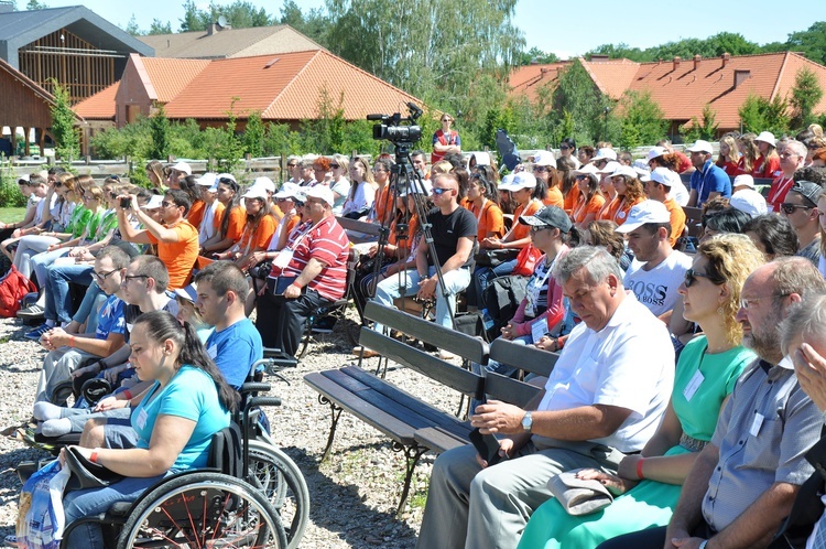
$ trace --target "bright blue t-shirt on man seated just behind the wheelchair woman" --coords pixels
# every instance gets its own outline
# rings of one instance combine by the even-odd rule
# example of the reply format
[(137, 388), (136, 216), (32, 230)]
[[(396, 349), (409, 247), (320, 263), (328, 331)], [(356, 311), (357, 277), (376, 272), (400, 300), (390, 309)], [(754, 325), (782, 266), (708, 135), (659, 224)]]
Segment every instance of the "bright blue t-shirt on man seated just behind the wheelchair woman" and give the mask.
[(252, 363), (264, 356), (261, 334), (249, 319), (236, 322), (220, 332), (213, 332), (205, 346), (224, 378), (235, 389), (247, 379)]

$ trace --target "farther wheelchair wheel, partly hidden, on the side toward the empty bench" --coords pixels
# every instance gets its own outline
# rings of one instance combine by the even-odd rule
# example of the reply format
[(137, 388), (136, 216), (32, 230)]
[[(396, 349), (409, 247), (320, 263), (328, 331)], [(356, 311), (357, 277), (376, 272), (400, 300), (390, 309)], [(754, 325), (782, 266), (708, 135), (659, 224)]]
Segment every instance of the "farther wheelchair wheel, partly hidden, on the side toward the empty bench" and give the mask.
[(272, 444), (250, 440), (250, 483), (279, 513), (287, 547), (297, 548), (309, 520), (309, 491), (298, 466)]

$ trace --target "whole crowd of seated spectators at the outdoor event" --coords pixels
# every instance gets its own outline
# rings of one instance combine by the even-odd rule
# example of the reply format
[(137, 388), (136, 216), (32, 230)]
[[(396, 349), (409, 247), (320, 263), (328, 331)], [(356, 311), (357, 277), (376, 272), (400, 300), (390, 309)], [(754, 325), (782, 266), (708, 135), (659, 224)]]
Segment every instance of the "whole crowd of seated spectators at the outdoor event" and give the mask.
[[(524, 408), (474, 403), (472, 426), (499, 437), (504, 460), (488, 466), (472, 445), (436, 460), (419, 547), (781, 547), (826, 407), (816, 130), (725, 136), (717, 159), (707, 141), (688, 157), (663, 141), (635, 162), (565, 139), (558, 159), (542, 151), (501, 181), (487, 153), (428, 168), (414, 151), (406, 189), (389, 155), (372, 168), (291, 157), (280, 187), (156, 161), (153, 190), (59, 169), (21, 177), (26, 216), (0, 227), (0, 246), (39, 289), (19, 312), (43, 319), (25, 337), (48, 352), (37, 432), (78, 433), (85, 456), (128, 475), (72, 492), (67, 520), (203, 466), (264, 347), (295, 356), (308, 319), (351, 290), (359, 312), (414, 297), (444, 326), (477, 311), (500, 337), (559, 353)], [(686, 207), (703, 208), (696, 244)], [(339, 217), (387, 238), (365, 241)], [(523, 292), (514, 314), (490, 319), (504, 279)], [(90, 379), (110, 395), (57, 406), (58, 388)], [(573, 470), (613, 503), (568, 514), (548, 481)]]

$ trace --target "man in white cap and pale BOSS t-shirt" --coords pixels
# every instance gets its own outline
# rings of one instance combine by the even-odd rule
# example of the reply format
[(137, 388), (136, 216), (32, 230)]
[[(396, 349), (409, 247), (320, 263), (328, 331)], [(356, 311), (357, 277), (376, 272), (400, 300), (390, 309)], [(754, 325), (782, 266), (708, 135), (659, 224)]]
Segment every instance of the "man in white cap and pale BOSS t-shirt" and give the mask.
[(677, 288), (692, 266), (692, 258), (669, 243), (669, 209), (662, 202), (642, 201), (631, 208), (617, 232), (628, 235), (628, 247), (634, 252), (623, 286), (656, 316), (670, 313), (680, 298)]

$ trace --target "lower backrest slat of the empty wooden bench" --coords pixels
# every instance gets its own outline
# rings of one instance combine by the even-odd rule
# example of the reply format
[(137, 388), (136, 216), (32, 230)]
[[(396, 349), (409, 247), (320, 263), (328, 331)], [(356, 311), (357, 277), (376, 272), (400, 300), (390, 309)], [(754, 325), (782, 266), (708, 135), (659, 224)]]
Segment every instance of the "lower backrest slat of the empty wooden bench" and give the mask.
[(362, 327), (359, 343), (454, 390), (481, 399), (483, 380), (472, 372), (454, 366), (374, 330)]

